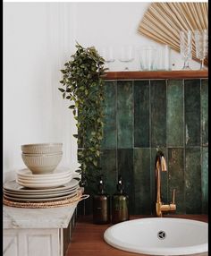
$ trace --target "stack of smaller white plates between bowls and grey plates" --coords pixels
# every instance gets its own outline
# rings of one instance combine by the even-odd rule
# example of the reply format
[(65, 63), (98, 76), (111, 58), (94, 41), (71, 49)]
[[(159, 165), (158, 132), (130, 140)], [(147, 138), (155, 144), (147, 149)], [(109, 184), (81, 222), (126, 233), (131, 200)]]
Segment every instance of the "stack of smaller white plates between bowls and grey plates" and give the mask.
[(32, 189), (55, 188), (72, 180), (72, 171), (68, 167), (56, 168), (51, 174), (33, 175), (30, 169), (21, 169), (16, 172), (17, 183)]

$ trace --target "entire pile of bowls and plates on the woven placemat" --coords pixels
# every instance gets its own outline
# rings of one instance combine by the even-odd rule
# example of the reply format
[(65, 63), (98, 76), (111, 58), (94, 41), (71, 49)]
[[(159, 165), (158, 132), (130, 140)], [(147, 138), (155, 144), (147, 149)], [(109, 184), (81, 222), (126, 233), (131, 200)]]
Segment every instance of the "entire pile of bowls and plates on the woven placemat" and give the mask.
[(80, 176), (70, 167), (57, 167), (63, 156), (62, 146), (62, 143), (21, 145), (21, 156), (28, 168), (16, 171), (16, 180), (4, 183), (4, 199), (16, 203), (72, 200), (79, 192)]

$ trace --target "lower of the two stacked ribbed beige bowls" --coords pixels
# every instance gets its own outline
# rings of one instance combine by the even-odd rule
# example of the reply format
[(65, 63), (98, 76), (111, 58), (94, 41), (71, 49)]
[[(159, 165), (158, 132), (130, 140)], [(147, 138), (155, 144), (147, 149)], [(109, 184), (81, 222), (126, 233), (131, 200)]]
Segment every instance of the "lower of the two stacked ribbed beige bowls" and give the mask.
[(63, 154), (45, 154), (40, 156), (21, 154), (21, 157), (24, 164), (30, 169), (33, 175), (44, 175), (55, 170), (62, 160)]

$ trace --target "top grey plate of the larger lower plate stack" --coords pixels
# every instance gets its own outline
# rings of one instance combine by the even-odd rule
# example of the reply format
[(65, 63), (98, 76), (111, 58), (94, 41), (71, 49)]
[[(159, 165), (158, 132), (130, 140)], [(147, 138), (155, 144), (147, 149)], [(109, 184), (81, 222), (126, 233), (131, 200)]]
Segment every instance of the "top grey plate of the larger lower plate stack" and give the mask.
[(8, 181), (4, 183), (4, 190), (12, 191), (12, 192), (55, 192), (55, 191), (65, 191), (71, 188), (76, 187), (79, 184), (79, 181), (72, 179), (69, 183), (65, 183), (56, 188), (47, 188), (43, 190), (32, 190), (30, 188), (25, 188), (22, 185), (16, 183), (16, 181)]

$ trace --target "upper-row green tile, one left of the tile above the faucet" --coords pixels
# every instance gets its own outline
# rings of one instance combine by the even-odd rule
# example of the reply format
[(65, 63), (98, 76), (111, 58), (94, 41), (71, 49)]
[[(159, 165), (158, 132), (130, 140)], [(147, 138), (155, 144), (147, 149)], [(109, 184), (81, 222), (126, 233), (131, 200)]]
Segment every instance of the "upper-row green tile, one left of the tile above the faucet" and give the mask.
[(134, 81), (134, 147), (149, 147), (149, 81)]

